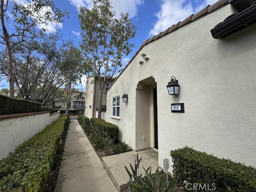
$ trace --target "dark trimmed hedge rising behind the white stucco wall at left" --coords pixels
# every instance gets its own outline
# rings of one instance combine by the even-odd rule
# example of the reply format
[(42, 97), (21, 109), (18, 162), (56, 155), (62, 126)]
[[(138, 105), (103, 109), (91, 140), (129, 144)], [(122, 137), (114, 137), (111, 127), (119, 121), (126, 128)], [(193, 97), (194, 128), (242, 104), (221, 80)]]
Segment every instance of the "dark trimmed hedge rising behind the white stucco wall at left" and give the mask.
[(50, 111), (40, 103), (0, 95), (0, 115)]

